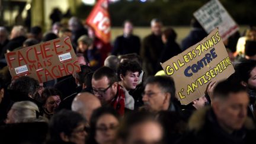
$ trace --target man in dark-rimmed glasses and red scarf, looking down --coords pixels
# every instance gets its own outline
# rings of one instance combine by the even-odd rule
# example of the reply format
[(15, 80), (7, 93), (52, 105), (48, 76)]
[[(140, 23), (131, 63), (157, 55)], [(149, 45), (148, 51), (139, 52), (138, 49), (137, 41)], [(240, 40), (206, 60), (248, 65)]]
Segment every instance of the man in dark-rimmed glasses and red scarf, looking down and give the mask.
[(101, 104), (111, 105), (123, 116), (124, 109), (134, 110), (135, 100), (118, 84), (116, 73), (113, 69), (103, 66), (92, 75), (92, 92)]

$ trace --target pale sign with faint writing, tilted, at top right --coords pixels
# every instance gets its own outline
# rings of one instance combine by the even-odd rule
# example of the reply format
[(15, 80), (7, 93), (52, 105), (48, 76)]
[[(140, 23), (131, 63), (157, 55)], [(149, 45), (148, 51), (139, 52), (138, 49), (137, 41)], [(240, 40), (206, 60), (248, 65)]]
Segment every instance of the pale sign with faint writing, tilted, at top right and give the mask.
[(229, 36), (239, 29), (231, 15), (228, 14), (218, 0), (207, 2), (207, 4), (194, 12), (193, 15), (208, 34), (215, 28), (219, 28), (222, 40), (228, 39)]

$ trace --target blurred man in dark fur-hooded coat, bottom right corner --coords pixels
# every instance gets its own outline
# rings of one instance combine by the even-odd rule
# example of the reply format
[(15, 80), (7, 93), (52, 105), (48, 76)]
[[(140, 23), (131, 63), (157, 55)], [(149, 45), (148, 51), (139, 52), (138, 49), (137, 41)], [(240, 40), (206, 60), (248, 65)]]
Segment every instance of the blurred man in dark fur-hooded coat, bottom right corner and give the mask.
[(198, 110), (179, 143), (253, 143), (255, 126), (247, 117), (249, 97), (240, 83), (222, 81), (213, 92), (212, 107)]

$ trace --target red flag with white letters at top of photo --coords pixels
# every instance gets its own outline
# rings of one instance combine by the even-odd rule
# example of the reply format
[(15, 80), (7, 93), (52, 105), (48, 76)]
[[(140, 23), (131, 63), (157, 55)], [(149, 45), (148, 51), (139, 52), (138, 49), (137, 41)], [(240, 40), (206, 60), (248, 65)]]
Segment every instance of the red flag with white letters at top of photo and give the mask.
[(86, 23), (95, 30), (95, 35), (110, 42), (110, 17), (108, 14), (108, 0), (99, 0), (89, 14)]

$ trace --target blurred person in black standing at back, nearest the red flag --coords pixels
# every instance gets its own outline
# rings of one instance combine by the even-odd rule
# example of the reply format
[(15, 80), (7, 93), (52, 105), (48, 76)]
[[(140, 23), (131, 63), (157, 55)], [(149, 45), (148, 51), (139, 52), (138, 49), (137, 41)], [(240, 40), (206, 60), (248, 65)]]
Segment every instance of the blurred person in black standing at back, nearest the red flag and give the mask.
[(140, 52), (140, 39), (133, 35), (133, 24), (126, 20), (123, 24), (123, 35), (118, 36), (114, 41), (112, 55), (126, 55), (128, 53)]

